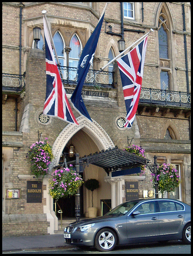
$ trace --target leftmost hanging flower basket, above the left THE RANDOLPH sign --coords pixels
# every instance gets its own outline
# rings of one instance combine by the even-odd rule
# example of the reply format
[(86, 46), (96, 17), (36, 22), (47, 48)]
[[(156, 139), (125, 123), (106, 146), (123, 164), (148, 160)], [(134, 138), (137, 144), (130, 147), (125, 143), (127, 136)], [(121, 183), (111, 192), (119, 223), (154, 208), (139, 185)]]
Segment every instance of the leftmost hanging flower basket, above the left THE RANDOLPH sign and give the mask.
[(35, 178), (47, 174), (49, 164), (53, 159), (52, 147), (47, 141), (35, 142), (30, 146), (29, 152), (26, 155), (28, 162), (30, 162), (30, 170)]

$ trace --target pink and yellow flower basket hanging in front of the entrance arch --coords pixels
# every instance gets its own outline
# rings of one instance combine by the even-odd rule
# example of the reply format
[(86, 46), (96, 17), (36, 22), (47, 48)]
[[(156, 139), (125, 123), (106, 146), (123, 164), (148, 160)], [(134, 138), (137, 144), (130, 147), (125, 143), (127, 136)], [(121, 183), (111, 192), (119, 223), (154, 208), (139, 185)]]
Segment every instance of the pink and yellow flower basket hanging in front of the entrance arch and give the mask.
[(83, 184), (83, 179), (79, 174), (72, 170), (72, 165), (69, 168), (60, 168), (55, 170), (49, 179), (49, 194), (55, 199), (76, 194), (79, 187)]

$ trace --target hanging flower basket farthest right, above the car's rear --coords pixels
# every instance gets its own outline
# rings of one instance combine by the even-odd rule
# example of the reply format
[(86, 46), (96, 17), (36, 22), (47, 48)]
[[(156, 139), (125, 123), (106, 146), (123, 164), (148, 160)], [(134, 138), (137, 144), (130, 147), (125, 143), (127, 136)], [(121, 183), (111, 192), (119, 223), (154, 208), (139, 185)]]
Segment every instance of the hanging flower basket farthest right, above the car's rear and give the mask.
[[(155, 174), (152, 173), (153, 187), (155, 188)], [(162, 164), (158, 168), (157, 174), (158, 190), (163, 194), (166, 192), (175, 192), (180, 184), (179, 172), (174, 168), (172, 164)]]

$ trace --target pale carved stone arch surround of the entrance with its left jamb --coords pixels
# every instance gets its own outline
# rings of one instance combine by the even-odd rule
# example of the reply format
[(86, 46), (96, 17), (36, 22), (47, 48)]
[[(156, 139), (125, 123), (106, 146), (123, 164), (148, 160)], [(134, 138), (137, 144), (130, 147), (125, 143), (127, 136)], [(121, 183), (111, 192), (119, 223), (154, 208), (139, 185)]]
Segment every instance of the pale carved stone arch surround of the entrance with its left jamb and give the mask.
[[(75, 136), (80, 130), (82, 130), (88, 137), (92, 140), (93, 144), (95, 144), (98, 151), (107, 150), (108, 148), (114, 148), (114, 144), (108, 134), (104, 131), (104, 129), (97, 123), (95, 120), (90, 122), (84, 116), (79, 116), (77, 118), (77, 122), (79, 126), (75, 124), (68, 124), (65, 128), (61, 131), (59, 136), (56, 138), (55, 142), (53, 143), (53, 154), (55, 159), (51, 163), (49, 173), (51, 173), (54, 166), (57, 166), (59, 163), (59, 159), (61, 153), (63, 152), (64, 147), (67, 145), (69, 140)], [(93, 152), (91, 152), (93, 153)], [(94, 166), (94, 168), (96, 168)], [(103, 178), (104, 179), (104, 178)], [(47, 214), (47, 221), (50, 222), (50, 227), (48, 228), (49, 234), (54, 234), (54, 230), (57, 230), (57, 217), (55, 216), (55, 212), (53, 211), (53, 199), (48, 194), (48, 180), (49, 177), (44, 178), (43, 184), (46, 185), (47, 190), (44, 192), (44, 198), (46, 198), (46, 206), (44, 206), (44, 213)], [(86, 193), (88, 193), (86, 191)], [(87, 196), (87, 203), (88, 204), (88, 196)]]

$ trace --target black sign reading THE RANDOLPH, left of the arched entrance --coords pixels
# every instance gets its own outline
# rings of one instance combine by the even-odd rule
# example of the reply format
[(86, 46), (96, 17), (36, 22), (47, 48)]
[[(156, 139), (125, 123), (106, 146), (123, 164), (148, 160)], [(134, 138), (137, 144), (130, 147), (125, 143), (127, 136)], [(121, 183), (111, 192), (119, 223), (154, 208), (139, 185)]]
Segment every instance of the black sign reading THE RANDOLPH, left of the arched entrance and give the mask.
[(41, 203), (42, 182), (27, 181), (27, 203)]

